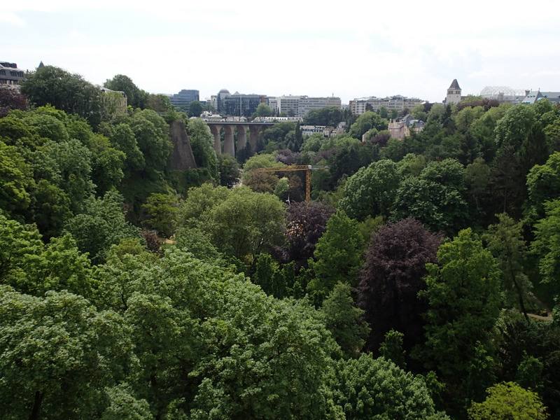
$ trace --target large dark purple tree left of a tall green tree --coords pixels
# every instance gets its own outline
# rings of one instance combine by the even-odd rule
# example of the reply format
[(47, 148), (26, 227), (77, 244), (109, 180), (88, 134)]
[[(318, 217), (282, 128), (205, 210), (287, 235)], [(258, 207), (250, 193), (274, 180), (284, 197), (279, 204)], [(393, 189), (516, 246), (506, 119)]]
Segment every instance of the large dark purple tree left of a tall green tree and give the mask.
[(442, 239), (412, 218), (389, 223), (372, 234), (356, 288), (358, 307), (365, 310), (372, 328), (368, 349), (378, 351), (391, 329), (405, 335), (407, 353), (423, 341), (421, 314), (426, 303), (416, 295), (426, 286), (422, 280), (428, 274), (426, 262), (437, 261)]

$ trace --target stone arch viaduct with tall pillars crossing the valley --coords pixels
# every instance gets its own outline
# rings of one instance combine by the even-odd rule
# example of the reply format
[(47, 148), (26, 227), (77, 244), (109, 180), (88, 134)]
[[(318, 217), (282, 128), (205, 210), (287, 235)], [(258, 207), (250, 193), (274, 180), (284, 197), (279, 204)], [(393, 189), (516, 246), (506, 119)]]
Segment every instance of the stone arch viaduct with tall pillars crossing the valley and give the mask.
[[(240, 123), (237, 121), (206, 121), (210, 132), (214, 136), (214, 151), (216, 155), (230, 155), (235, 157), (235, 152), (247, 145), (247, 129), (249, 130), (249, 144), (255, 153), (260, 133), (278, 123)], [(221, 144), (221, 130), (224, 130), (223, 151)], [(237, 130), (237, 142), (234, 142), (233, 132)]]

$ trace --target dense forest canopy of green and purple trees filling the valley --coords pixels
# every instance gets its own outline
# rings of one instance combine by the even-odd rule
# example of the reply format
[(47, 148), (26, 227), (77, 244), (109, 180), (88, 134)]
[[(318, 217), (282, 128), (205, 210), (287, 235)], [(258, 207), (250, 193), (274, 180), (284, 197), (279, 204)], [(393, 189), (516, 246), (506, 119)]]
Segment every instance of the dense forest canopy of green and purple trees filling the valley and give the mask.
[(0, 87), (3, 418), (559, 418), (559, 106), (424, 104), (404, 139), (330, 107), (234, 157), (106, 87)]

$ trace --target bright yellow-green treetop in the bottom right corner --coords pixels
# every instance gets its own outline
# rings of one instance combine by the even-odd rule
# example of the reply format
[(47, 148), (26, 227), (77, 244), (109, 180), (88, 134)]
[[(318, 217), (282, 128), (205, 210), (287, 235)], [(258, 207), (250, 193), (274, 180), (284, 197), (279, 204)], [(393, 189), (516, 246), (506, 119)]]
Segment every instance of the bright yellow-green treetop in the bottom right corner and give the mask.
[(484, 402), (473, 402), (468, 409), (469, 420), (546, 420), (546, 407), (538, 395), (515, 382), (491, 386)]

